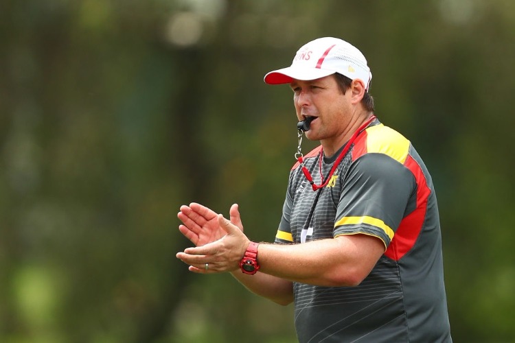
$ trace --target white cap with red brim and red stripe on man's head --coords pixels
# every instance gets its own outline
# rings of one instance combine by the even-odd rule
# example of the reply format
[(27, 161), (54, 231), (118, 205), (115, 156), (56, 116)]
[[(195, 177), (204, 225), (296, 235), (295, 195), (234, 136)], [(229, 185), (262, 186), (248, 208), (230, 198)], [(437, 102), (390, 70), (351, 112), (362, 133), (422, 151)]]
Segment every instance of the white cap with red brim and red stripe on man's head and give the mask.
[(267, 84), (287, 84), (295, 80), (315, 80), (340, 73), (351, 80), (360, 79), (368, 90), (372, 73), (367, 60), (354, 45), (339, 38), (324, 37), (306, 43), (297, 51), (290, 67), (264, 76)]

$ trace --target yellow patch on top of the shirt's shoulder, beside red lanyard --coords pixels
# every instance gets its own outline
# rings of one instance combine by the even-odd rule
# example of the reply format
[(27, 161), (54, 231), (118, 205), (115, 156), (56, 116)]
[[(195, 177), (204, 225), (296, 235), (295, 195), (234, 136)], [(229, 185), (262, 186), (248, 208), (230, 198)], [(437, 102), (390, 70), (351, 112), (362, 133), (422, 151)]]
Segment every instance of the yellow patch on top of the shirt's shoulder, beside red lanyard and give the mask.
[(386, 154), (404, 164), (409, 145), (410, 142), (402, 134), (383, 124), (367, 128), (367, 152)]

